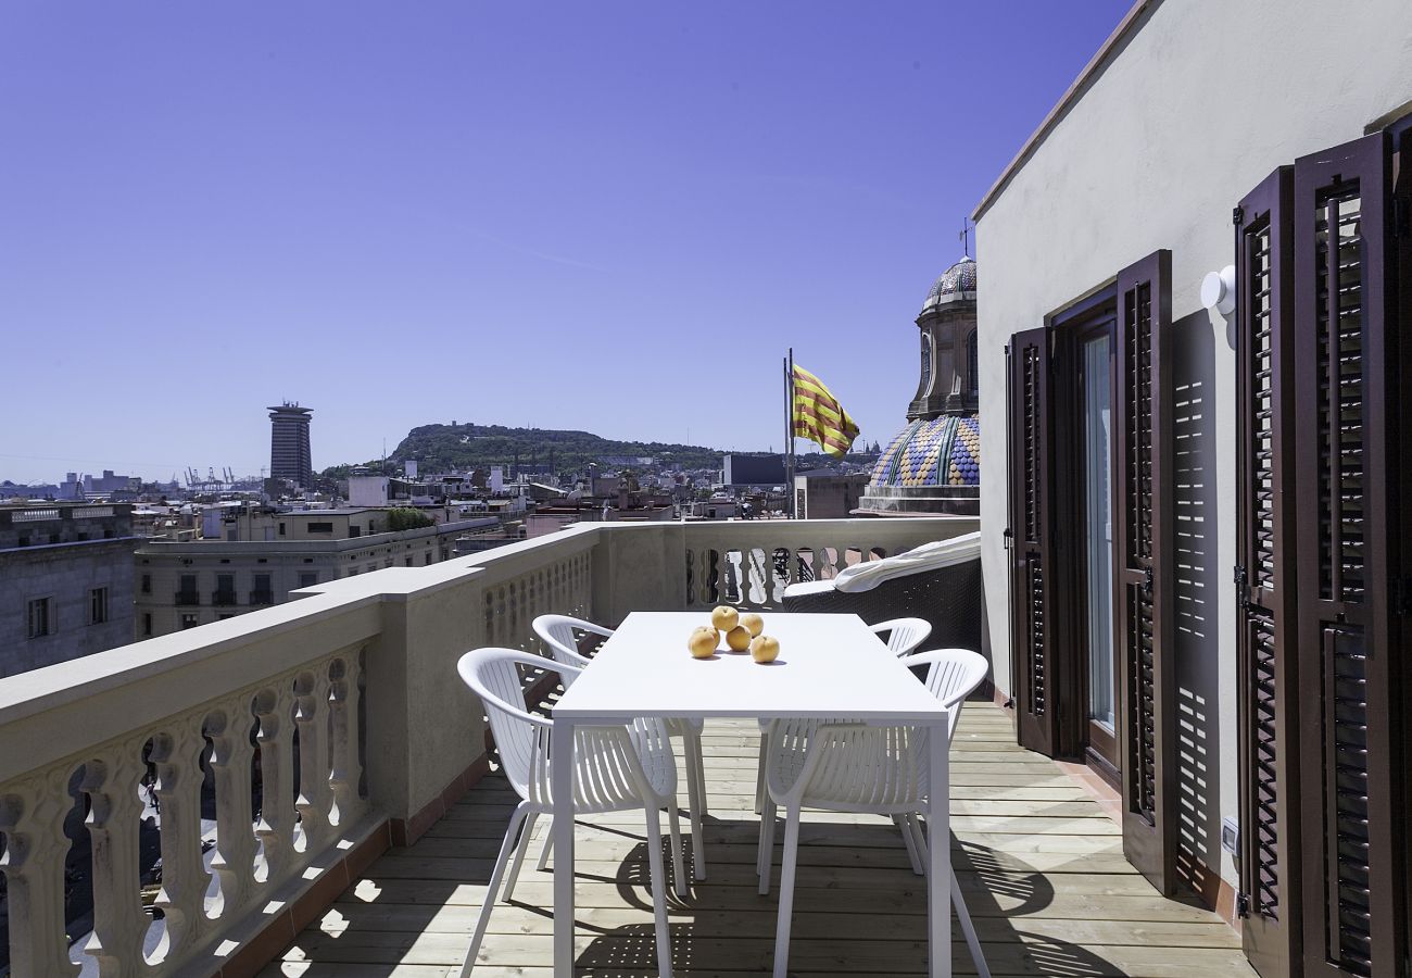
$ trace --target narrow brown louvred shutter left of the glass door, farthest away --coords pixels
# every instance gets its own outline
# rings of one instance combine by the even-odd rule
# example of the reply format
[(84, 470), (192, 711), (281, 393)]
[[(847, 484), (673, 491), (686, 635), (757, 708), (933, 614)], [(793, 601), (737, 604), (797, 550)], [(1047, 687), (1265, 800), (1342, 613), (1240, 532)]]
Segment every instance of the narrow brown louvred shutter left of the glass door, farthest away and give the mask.
[(1053, 404), (1049, 329), (1011, 336), (1010, 605), (1014, 700), (1019, 743), (1053, 756), (1059, 719), (1052, 601), (1055, 581)]

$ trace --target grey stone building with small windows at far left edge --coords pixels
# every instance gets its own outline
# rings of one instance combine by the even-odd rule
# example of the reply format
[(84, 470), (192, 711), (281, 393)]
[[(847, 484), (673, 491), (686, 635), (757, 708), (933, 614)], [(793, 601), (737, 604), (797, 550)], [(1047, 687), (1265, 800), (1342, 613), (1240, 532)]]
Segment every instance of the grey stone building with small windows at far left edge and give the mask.
[(133, 640), (130, 506), (0, 506), (0, 678)]

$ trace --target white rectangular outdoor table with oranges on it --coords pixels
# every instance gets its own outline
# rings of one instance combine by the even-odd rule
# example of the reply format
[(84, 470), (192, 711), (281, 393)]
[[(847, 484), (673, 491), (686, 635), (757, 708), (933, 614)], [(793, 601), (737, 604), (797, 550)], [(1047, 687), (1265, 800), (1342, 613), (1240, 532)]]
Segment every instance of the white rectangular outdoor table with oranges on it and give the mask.
[[(950, 783), (947, 711), (857, 615), (764, 615), (779, 659), (748, 653), (692, 659), (686, 637), (706, 612), (634, 612), (554, 708), (555, 750), (573, 749), (575, 726), (609, 726), (634, 717), (850, 717), (878, 725), (931, 728), (928, 931), (931, 975), (952, 974)], [(554, 974), (573, 974), (573, 763), (555, 758)], [(699, 839), (692, 839), (698, 845)], [(655, 895), (661, 899), (662, 895)]]

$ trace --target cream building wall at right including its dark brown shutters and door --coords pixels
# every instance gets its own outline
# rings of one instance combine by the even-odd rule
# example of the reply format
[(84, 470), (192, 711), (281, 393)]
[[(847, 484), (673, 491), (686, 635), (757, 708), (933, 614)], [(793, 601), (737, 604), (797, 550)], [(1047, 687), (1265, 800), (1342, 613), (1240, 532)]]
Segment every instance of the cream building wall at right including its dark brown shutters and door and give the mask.
[(1401, 0), (1138, 3), (976, 212), (997, 685), (1267, 978), (1408, 974), (1409, 113)]

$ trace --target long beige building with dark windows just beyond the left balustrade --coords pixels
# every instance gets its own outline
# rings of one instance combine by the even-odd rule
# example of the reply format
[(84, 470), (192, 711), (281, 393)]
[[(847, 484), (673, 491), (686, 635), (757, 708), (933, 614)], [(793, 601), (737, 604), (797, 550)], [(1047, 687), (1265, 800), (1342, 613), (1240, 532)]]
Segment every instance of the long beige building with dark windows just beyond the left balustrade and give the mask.
[(457, 520), (388, 531), (385, 509), (213, 512), (219, 526), (206, 529), (222, 538), (137, 548), (138, 639), (280, 605), (291, 591), (337, 578), (436, 564), (452, 557), (457, 537), (487, 529), (486, 520)]

